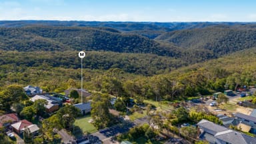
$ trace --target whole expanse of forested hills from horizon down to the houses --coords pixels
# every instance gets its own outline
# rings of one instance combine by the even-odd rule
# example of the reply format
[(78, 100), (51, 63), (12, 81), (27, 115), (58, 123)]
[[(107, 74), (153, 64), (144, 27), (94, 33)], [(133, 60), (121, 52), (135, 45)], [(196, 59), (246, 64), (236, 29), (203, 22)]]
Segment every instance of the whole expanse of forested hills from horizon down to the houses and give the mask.
[(87, 89), (112, 95), (173, 100), (255, 84), (253, 23), (7, 24), (0, 28), (1, 87), (79, 87), (81, 50)]

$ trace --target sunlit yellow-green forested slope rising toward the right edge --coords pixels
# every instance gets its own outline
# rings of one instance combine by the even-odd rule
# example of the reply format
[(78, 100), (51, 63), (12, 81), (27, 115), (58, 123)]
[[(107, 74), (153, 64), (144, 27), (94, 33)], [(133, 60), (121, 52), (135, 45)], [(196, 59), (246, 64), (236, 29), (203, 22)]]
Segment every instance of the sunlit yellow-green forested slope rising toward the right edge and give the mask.
[[(224, 91), (244, 85), (256, 84), (256, 48), (237, 51), (229, 55), (181, 67), (165, 75), (154, 75), (140, 79), (141, 85), (156, 85), (159, 81), (161, 87), (170, 83), (181, 83), (183, 89), (174, 95), (176, 99), (198, 95), (212, 95), (213, 92)], [(145, 81), (145, 82), (143, 82)], [(162, 91), (164, 99), (168, 97), (169, 85)]]

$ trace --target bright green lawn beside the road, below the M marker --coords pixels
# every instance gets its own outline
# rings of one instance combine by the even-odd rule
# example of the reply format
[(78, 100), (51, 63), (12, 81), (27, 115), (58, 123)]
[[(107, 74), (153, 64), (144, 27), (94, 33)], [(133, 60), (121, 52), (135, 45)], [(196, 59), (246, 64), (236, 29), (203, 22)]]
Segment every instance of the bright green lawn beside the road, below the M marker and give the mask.
[(97, 129), (88, 122), (89, 119), (91, 119), (91, 115), (85, 115), (85, 117), (80, 117), (76, 119), (74, 125), (80, 127), (83, 132), (86, 131), (87, 133), (94, 133), (97, 131)]

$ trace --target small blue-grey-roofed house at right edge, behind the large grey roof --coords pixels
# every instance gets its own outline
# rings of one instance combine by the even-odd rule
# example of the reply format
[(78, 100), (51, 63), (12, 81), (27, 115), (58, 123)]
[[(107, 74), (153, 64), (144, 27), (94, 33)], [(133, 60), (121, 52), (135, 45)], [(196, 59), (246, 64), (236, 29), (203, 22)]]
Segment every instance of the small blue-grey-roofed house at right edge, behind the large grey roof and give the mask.
[(237, 113), (235, 117), (239, 119), (241, 123), (251, 126), (251, 133), (256, 133), (256, 117), (245, 115), (243, 113)]

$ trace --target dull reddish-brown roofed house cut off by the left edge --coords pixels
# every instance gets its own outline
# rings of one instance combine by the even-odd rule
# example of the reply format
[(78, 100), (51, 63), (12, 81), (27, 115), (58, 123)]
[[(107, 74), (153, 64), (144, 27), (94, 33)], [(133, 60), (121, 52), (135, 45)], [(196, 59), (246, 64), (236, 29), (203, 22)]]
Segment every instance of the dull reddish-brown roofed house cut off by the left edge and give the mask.
[(19, 121), (16, 113), (9, 113), (0, 116), (0, 127), (9, 127), (12, 123)]

